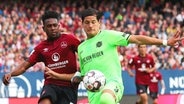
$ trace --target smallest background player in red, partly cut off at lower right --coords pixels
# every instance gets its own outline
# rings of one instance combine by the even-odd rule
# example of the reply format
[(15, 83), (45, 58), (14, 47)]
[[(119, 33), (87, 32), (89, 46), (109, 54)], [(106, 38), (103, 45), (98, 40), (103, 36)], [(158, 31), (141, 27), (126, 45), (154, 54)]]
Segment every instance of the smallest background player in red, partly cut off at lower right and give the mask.
[(159, 82), (161, 84), (161, 92), (160, 94), (164, 94), (165, 92), (165, 83), (162, 79), (162, 74), (157, 70), (151, 72), (150, 74), (150, 84), (149, 84), (149, 94), (153, 99), (153, 104), (158, 104), (158, 92), (159, 92)]

